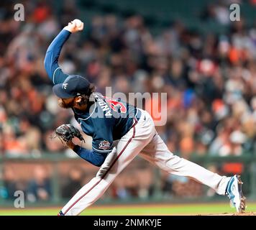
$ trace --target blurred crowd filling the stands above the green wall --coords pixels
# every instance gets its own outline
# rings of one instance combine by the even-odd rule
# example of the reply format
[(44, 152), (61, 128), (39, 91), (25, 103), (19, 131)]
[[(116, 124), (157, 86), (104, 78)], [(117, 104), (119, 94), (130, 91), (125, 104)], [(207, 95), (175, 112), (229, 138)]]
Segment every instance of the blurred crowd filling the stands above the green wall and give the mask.
[[(63, 1), (56, 14), (52, 1), (23, 3), (25, 22), (14, 21), (11, 4), (0, 3), (0, 154), (63, 152), (50, 136), (60, 124), (76, 121), (58, 107), (43, 60), (60, 29), (79, 18), (79, 7)], [(217, 13), (206, 9), (201, 19), (221, 23)], [(243, 17), (226, 24), (227, 34), (203, 35), (180, 19), (153, 36), (140, 15), (95, 15), (85, 32), (70, 36), (59, 63), (65, 73), (85, 75), (103, 94), (106, 86), (112, 93), (167, 93), (167, 123), (157, 132), (182, 157), (252, 154), (256, 24), (248, 27)]]

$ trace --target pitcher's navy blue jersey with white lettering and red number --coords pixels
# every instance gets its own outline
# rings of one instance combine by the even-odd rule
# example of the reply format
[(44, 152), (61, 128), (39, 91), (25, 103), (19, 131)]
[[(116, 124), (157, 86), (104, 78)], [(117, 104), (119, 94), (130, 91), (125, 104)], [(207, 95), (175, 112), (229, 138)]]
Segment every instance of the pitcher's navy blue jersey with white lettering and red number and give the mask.
[(93, 150), (109, 152), (113, 141), (121, 139), (132, 127), (137, 108), (101, 93), (93, 93), (93, 98), (95, 103), (87, 111), (73, 109), (73, 112), (83, 132), (93, 138)]

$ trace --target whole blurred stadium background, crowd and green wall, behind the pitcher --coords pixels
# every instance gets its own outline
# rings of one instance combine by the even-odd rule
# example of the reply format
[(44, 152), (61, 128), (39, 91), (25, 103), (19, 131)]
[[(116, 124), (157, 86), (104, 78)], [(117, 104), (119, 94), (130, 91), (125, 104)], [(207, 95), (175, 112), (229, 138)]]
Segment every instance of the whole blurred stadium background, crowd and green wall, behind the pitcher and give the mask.
[[(234, 2), (239, 22), (229, 19)], [(14, 21), (17, 3), (24, 22)], [(157, 132), (170, 150), (221, 175), (241, 174), (244, 195), (256, 201), (256, 1), (31, 0), (0, 8), (1, 207), (14, 207), (15, 190), (24, 191), (26, 207), (61, 207), (97, 172), (50, 139), (76, 121), (58, 107), (43, 60), (76, 18), (85, 29), (63, 47), (63, 71), (86, 75), (101, 93), (167, 93), (168, 121)], [(228, 206), (227, 197), (137, 157), (97, 203), (171, 210), (197, 202)]]

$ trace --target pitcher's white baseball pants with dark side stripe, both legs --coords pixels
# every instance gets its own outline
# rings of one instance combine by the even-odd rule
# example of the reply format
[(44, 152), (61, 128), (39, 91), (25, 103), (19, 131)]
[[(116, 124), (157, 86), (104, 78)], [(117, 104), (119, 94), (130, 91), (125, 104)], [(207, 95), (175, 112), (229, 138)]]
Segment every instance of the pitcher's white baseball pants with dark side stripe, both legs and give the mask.
[(140, 120), (116, 144), (101, 165), (96, 177), (83, 186), (63, 207), (65, 216), (76, 216), (104, 194), (117, 175), (140, 154), (167, 172), (186, 176), (213, 188), (224, 195), (230, 178), (206, 170), (193, 162), (173, 155), (155, 130), (154, 121), (147, 111), (141, 110)]

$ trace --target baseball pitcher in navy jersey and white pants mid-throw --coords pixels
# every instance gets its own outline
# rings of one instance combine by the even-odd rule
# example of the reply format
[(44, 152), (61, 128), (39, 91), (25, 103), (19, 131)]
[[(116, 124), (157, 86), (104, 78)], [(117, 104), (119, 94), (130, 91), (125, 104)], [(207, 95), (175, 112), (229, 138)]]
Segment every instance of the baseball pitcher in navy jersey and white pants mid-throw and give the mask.
[(228, 195), (237, 212), (244, 211), (245, 198), (239, 175), (221, 176), (173, 155), (157, 134), (147, 111), (95, 93), (92, 84), (80, 75), (63, 73), (58, 57), (68, 37), (83, 29), (83, 23), (80, 21), (78, 27), (78, 21), (68, 23), (52, 41), (45, 55), (45, 70), (54, 85), (52, 90), (58, 96), (59, 106), (73, 110), (83, 132), (93, 139), (92, 149), (72, 142), (73, 137), (81, 140), (83, 137), (70, 124), (59, 126), (56, 135), (81, 158), (98, 166), (99, 172), (78, 190), (58, 215), (78, 215), (97, 201), (137, 155), (169, 173), (193, 178), (219, 195)]

